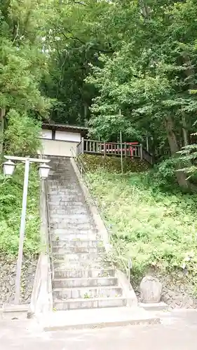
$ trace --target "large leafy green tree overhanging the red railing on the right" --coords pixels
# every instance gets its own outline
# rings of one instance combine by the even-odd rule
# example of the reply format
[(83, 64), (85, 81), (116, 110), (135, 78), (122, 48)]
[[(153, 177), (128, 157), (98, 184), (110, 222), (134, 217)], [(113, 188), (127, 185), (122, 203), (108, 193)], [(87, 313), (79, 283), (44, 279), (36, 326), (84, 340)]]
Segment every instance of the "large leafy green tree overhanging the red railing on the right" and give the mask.
[[(125, 18), (125, 6), (130, 8), (130, 1), (123, 2), (119, 22)], [(173, 156), (188, 142), (186, 129), (191, 128), (197, 108), (196, 10), (194, 1), (153, 0), (144, 16), (142, 3), (133, 3), (129, 9), (133, 20), (125, 23), (127, 35), (117, 45), (120, 48), (112, 58), (102, 55), (104, 66), (93, 66), (88, 78), (99, 91), (92, 106), (93, 132), (105, 136), (109, 121), (113, 130), (122, 125), (128, 130), (135, 127), (140, 134), (149, 125), (155, 135), (164, 135), (165, 130)], [(116, 118), (118, 109), (123, 120)], [(187, 188), (182, 172), (177, 181)]]

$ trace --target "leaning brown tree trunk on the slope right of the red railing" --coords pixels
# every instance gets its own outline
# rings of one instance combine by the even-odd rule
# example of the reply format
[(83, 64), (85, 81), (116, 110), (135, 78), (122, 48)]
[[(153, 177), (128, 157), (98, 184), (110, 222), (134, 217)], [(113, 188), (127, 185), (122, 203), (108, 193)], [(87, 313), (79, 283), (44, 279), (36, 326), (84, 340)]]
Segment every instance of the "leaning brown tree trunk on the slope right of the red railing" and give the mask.
[[(177, 137), (176, 137), (175, 132), (173, 130), (174, 123), (173, 123), (173, 120), (170, 116), (168, 116), (168, 118), (165, 119), (165, 127), (166, 127), (166, 131), (167, 131), (168, 142), (170, 145), (171, 154), (172, 154), (172, 156), (176, 157), (177, 152), (179, 151), (179, 146), (177, 143)], [(181, 166), (178, 163), (176, 165), (176, 169), (180, 169), (180, 168), (181, 168)], [(179, 184), (179, 186), (181, 188), (183, 188), (184, 190), (188, 190), (190, 188), (190, 184), (186, 180), (186, 174), (184, 174), (184, 172), (176, 172), (176, 177), (177, 177), (177, 183)]]

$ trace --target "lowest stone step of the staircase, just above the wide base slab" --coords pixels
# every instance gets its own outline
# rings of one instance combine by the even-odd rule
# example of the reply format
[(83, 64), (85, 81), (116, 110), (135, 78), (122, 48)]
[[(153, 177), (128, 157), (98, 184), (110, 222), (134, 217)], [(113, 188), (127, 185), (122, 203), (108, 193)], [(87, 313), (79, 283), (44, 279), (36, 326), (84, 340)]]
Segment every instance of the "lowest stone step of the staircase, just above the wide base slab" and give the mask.
[[(127, 300), (124, 297), (95, 297), (94, 299), (54, 300), (56, 310), (96, 309), (102, 307), (124, 307)], [(84, 317), (86, 317), (84, 315)]]

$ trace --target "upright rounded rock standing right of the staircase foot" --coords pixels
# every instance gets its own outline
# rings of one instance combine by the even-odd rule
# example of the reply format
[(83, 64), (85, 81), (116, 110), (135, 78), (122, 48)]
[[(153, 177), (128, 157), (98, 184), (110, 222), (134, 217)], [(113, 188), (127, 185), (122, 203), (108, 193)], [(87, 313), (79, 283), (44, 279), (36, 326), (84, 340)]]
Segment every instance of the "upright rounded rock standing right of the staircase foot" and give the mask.
[(142, 302), (160, 302), (162, 284), (154, 276), (145, 276), (140, 283), (140, 297)]

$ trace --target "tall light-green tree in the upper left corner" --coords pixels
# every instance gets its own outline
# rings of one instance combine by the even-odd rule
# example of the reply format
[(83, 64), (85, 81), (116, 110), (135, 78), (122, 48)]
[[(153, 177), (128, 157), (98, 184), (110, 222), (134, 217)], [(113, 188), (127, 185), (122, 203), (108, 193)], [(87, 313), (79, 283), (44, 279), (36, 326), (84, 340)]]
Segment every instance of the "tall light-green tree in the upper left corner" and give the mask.
[[(46, 6), (46, 8), (45, 8)], [(0, 5), (0, 124), (1, 150), (4, 118), (10, 109), (46, 116), (49, 99), (39, 85), (46, 73), (43, 53), (43, 25), (48, 15), (47, 1), (3, 0)]]

